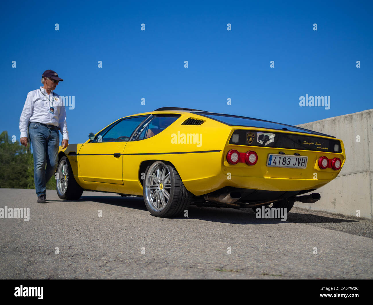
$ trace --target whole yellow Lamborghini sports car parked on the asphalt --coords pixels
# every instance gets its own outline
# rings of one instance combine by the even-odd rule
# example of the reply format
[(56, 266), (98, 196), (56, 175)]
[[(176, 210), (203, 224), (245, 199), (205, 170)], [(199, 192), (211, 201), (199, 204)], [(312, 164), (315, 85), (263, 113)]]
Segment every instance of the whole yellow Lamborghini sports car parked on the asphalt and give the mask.
[(338, 176), (343, 142), (291, 125), (195, 109), (163, 107), (119, 119), (83, 144), (59, 150), (57, 194), (83, 190), (143, 196), (159, 217), (189, 204), (289, 211), (316, 202), (313, 191)]

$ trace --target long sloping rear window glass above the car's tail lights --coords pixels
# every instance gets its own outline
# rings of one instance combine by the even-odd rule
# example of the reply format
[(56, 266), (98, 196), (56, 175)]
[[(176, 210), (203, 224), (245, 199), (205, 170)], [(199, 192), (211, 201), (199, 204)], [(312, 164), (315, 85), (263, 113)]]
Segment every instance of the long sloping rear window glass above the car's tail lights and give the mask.
[[(209, 117), (210, 119), (217, 120), (229, 126), (247, 126), (247, 127), (258, 127), (258, 128), (270, 128), (278, 130), (288, 130), (295, 132), (312, 133), (317, 135), (329, 136), (324, 133), (311, 131), (308, 129), (295, 127), (292, 125), (286, 125), (281, 123), (270, 122), (266, 120), (254, 119), (252, 117), (244, 116), (233, 116), (229, 114), (211, 113), (211, 112), (200, 112), (193, 111), (192, 113), (199, 114), (201, 116)], [(330, 136), (331, 137), (331, 136)]]

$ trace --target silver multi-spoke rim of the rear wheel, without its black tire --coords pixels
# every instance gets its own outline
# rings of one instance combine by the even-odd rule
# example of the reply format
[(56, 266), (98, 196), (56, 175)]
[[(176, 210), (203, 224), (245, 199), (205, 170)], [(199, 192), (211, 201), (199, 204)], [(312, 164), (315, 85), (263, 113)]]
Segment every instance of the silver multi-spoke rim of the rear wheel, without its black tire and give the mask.
[(162, 211), (170, 198), (171, 174), (162, 161), (154, 162), (144, 181), (145, 200), (154, 212)]

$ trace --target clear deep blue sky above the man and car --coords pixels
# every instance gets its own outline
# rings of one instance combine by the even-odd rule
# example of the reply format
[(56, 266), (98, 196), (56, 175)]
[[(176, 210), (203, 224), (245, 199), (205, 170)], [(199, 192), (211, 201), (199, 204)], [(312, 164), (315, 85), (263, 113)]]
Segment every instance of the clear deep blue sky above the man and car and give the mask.
[[(75, 109), (67, 109), (69, 143), (86, 141), (120, 117), (165, 106), (291, 125), (372, 109), (372, 6), (3, 1), (0, 132), (19, 140), (27, 92), (41, 86), (46, 69), (64, 79), (57, 94), (75, 97)], [(330, 109), (300, 107), (306, 94), (330, 96)]]

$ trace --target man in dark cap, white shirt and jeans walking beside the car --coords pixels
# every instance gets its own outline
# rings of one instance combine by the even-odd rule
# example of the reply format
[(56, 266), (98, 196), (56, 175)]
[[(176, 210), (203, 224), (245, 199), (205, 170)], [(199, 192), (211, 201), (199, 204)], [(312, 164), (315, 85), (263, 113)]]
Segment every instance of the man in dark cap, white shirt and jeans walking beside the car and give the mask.
[[(34, 152), (35, 191), (39, 203), (46, 203), (46, 183), (56, 171), (60, 130), (63, 135), (62, 148), (69, 145), (66, 125), (66, 110), (60, 96), (53, 92), (63, 79), (52, 70), (46, 70), (41, 78), (43, 87), (27, 94), (19, 119), (21, 144), (27, 147), (28, 132)], [(46, 168), (47, 163), (47, 168)]]

